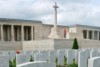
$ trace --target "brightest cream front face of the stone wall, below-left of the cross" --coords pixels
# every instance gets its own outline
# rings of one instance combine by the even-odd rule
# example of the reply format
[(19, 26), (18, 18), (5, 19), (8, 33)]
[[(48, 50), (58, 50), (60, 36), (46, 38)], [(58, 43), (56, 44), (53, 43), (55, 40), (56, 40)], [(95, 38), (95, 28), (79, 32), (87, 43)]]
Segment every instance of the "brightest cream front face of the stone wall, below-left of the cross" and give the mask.
[(23, 50), (53, 50), (54, 41), (52, 39), (24, 41)]

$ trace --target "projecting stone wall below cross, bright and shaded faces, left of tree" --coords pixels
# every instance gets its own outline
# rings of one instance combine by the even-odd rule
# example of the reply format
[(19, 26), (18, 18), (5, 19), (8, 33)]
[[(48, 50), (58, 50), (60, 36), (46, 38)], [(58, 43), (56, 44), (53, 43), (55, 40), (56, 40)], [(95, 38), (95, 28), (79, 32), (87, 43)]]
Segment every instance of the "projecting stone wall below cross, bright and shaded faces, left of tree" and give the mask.
[(73, 40), (44, 39), (23, 42), (23, 50), (54, 50), (71, 48)]

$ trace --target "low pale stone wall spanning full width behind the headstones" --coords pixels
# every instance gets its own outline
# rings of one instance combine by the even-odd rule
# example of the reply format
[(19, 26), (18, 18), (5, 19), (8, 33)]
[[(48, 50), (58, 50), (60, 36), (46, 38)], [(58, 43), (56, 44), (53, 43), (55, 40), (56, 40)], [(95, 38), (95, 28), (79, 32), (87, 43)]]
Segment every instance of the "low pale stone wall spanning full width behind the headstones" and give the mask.
[[(80, 48), (100, 48), (100, 41), (78, 40)], [(53, 50), (71, 48), (72, 39), (44, 39), (34, 41), (0, 42), (0, 50)]]

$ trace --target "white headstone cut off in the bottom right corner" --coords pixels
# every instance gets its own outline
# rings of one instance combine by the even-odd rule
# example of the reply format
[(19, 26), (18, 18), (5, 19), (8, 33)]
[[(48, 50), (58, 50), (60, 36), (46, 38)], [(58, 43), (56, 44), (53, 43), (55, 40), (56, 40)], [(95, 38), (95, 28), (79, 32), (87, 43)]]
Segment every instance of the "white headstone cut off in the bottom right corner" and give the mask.
[(90, 58), (88, 60), (88, 67), (100, 67), (100, 57)]

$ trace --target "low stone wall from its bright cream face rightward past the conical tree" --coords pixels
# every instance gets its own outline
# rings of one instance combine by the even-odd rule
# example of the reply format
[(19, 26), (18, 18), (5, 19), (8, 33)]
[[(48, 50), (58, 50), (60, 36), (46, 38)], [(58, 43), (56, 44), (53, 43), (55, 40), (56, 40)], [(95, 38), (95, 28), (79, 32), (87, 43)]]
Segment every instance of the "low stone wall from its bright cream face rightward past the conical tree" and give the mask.
[[(100, 48), (100, 41), (78, 40), (80, 48)], [(44, 39), (35, 41), (24, 41), (23, 50), (53, 50), (72, 48), (73, 39)]]

